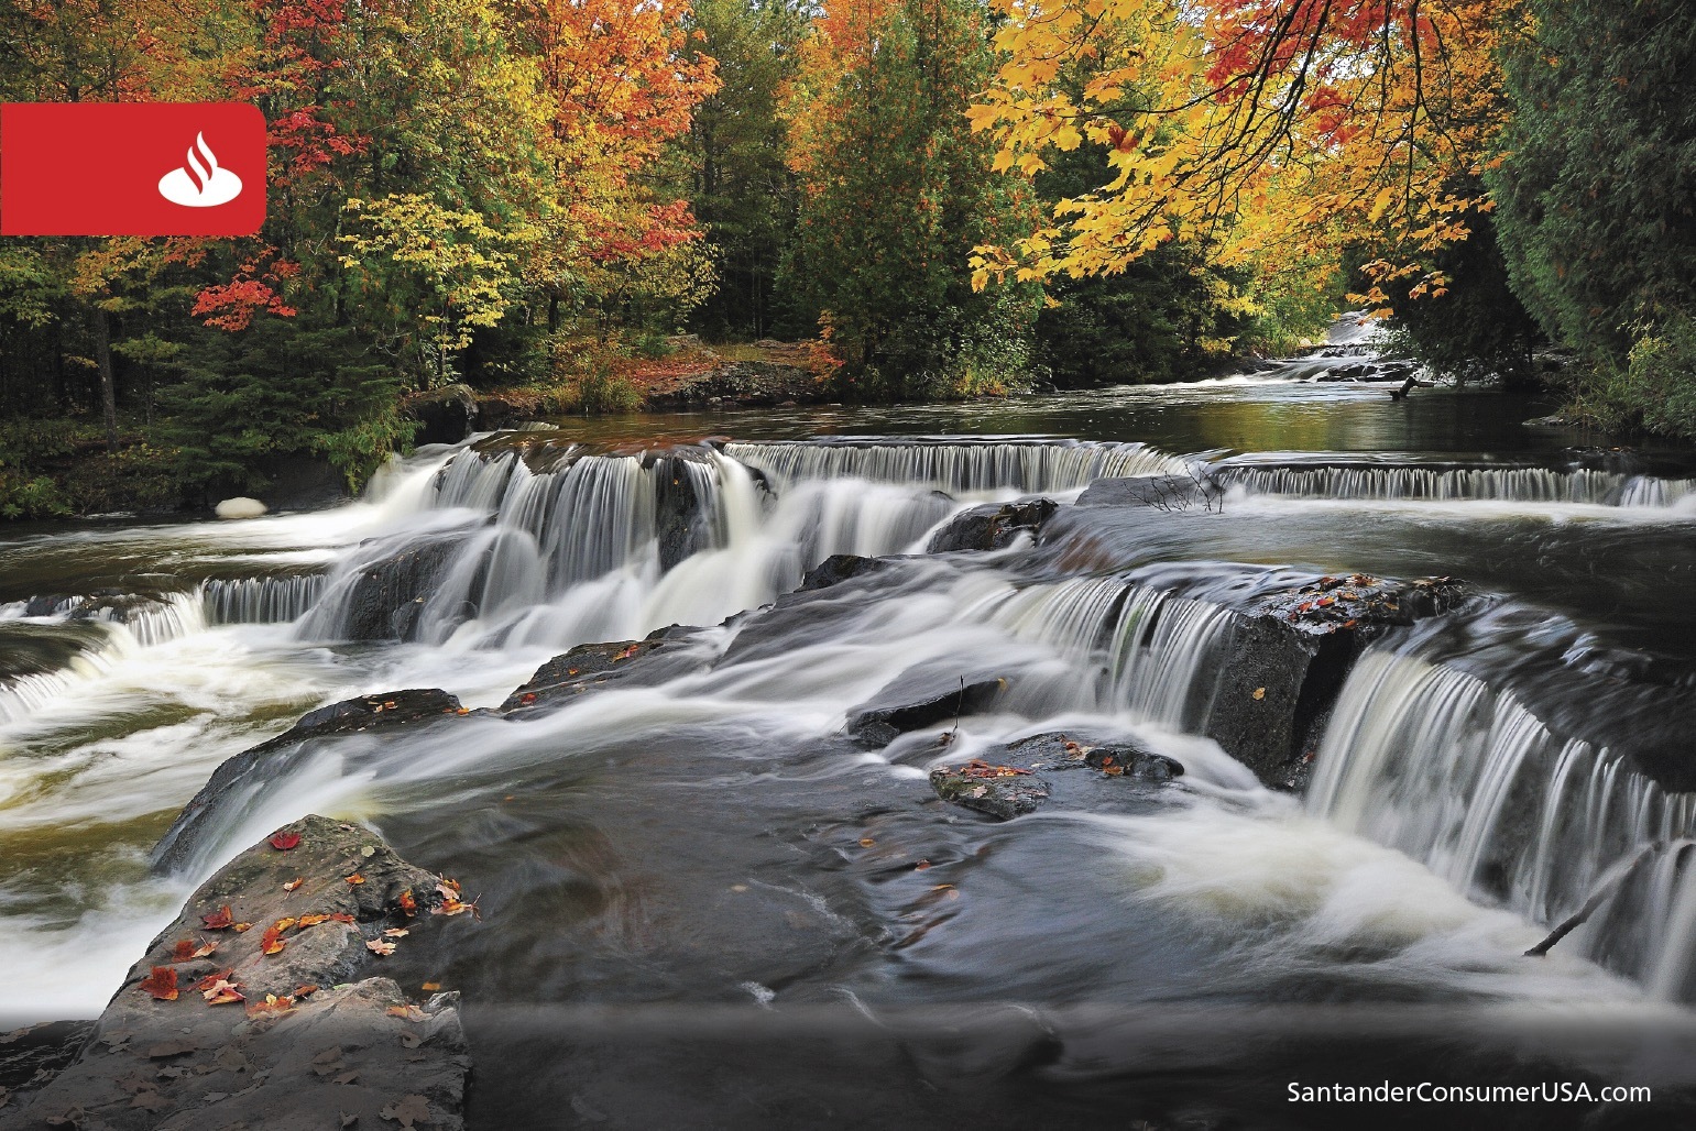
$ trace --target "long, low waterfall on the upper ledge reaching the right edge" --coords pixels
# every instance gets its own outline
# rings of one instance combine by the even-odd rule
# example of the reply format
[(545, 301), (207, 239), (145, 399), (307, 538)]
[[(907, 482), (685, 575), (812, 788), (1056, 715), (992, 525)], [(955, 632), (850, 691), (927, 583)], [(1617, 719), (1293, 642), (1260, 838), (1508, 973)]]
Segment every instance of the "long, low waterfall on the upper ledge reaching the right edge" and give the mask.
[(1669, 507), (1696, 493), (1696, 480), (1581, 468), (1255, 466), (1219, 465), (1209, 475), (1250, 495), (1360, 500), (1579, 502)]

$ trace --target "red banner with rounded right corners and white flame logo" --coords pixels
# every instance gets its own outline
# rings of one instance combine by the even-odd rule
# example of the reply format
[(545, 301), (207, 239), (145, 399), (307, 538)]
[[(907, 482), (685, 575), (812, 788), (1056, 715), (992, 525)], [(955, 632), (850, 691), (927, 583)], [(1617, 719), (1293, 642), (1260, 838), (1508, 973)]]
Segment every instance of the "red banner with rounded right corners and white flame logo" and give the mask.
[(253, 236), (263, 222), (258, 107), (0, 105), (0, 236)]

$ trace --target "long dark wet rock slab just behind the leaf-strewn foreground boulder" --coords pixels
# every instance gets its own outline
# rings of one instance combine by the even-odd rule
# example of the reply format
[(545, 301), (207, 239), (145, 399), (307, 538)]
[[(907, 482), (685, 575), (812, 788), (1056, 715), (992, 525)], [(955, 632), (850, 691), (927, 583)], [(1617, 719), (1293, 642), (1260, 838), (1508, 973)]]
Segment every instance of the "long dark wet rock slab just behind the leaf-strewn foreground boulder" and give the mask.
[(205, 819), (205, 814), (217, 805), (219, 799), (271, 777), (276, 770), (276, 761), (300, 749), (302, 743), (336, 734), (419, 724), (460, 714), (468, 712), (460, 705), (458, 699), (439, 688), (363, 695), (309, 710), (298, 722), (276, 738), (259, 743), (253, 749), (244, 749), (234, 758), (227, 758), (214, 770), (207, 783), (183, 805), (183, 811), (176, 814), (176, 821), (159, 838), (159, 843), (153, 850), (153, 866), (168, 872), (187, 863), (193, 834)]

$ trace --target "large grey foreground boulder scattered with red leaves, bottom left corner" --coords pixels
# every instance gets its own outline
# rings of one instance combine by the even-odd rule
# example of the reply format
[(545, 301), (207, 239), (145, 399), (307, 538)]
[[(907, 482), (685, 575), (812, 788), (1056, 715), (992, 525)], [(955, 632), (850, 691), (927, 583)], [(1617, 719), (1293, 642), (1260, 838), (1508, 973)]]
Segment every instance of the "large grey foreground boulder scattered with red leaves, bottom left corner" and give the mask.
[(458, 929), (421, 914), (443, 902), (436, 885), (360, 826), (283, 826), (188, 899), (19, 1126), (465, 1126), (458, 994), (419, 1004), (365, 977), (380, 961), (366, 943), (385, 929), (410, 933), (400, 946)]

